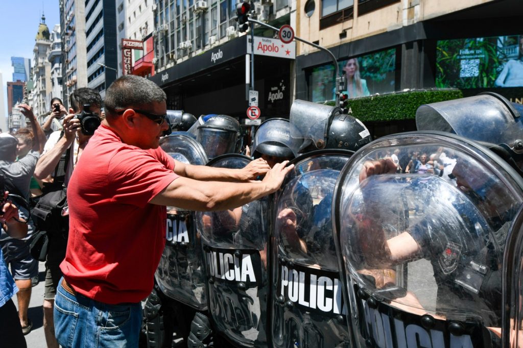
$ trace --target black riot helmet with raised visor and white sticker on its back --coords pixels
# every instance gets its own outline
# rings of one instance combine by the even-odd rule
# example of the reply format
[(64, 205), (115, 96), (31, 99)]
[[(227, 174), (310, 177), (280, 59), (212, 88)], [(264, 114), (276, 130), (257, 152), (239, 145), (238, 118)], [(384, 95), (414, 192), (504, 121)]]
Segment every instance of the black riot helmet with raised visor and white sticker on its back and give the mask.
[(367, 127), (338, 107), (295, 100), (290, 123), (291, 136), (304, 139), (300, 153), (324, 148), (356, 151), (372, 141)]

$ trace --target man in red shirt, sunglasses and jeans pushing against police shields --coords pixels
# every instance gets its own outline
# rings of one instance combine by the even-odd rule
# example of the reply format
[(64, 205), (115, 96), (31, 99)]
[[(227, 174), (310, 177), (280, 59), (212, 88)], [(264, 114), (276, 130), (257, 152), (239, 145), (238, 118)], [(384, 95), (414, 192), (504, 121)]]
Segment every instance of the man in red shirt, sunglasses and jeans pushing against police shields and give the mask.
[[(169, 157), (158, 147), (168, 127), (165, 92), (142, 77), (117, 79), (105, 109), (67, 191), (69, 241), (54, 309), (64, 347), (138, 346), (140, 301), (165, 245), (165, 205), (238, 207), (275, 192), (292, 169), (287, 161), (225, 169)], [(252, 181), (259, 175), (263, 181)]]

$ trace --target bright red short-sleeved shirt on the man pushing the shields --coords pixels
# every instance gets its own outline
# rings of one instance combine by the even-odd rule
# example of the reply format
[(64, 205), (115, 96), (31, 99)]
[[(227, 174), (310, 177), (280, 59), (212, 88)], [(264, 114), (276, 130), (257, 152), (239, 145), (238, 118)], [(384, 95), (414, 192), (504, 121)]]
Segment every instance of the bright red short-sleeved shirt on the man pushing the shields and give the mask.
[(165, 246), (166, 209), (151, 199), (178, 178), (160, 147), (122, 143), (101, 125), (67, 187), (69, 241), (60, 265), (82, 295), (107, 304), (144, 299)]

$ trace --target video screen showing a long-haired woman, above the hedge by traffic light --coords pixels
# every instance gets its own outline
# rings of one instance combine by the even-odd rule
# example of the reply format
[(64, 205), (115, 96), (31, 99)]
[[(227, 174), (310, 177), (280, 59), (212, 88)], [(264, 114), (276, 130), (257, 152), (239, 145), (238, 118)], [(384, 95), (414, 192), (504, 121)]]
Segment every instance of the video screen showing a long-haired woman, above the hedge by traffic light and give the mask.
[[(349, 98), (393, 92), (395, 85), (396, 49), (379, 51), (338, 61), (345, 75), (345, 92)], [(311, 69), (309, 95), (314, 102), (336, 99), (334, 66), (326, 64)]]

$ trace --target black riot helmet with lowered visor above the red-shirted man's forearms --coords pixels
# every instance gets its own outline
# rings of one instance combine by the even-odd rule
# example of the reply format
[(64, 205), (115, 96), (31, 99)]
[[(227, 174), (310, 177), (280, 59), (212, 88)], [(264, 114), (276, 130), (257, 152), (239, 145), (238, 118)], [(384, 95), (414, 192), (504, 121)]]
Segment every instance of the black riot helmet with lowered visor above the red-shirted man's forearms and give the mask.
[(238, 153), (242, 148), (240, 123), (228, 115), (215, 115), (198, 126), (196, 140), (209, 159)]

